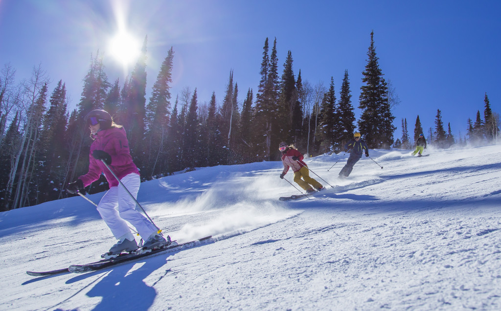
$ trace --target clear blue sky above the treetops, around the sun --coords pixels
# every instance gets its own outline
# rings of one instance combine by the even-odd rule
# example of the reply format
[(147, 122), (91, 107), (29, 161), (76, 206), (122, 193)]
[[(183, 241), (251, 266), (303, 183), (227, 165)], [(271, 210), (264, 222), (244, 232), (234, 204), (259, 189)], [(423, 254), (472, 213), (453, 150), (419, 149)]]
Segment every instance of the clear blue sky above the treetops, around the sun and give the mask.
[[(75, 108), (91, 54), (104, 55), (110, 82), (121, 84), (124, 67), (110, 53), (110, 38), (124, 25), (142, 43), (148, 36), (147, 92), (170, 47), (174, 50), (172, 103), (188, 86), (199, 103), (214, 91), (221, 101), (230, 70), (241, 102), (256, 94), (265, 39), (277, 38), (279, 74), (287, 52), (303, 80), (334, 77), (339, 98), (344, 71), (350, 76), (357, 116), (370, 33), (385, 78), (401, 100), (393, 111), (412, 133), (416, 116), (434, 127), (437, 109), (445, 126), (464, 136), (483, 97), (500, 113), (501, 4), (497, 1), (54, 1), (0, 0), (0, 65), (10, 63), (16, 79), (28, 79), (41, 64), (50, 92), (63, 80)], [(120, 21), (123, 23), (120, 24)], [(149, 95), (147, 100), (149, 99)]]

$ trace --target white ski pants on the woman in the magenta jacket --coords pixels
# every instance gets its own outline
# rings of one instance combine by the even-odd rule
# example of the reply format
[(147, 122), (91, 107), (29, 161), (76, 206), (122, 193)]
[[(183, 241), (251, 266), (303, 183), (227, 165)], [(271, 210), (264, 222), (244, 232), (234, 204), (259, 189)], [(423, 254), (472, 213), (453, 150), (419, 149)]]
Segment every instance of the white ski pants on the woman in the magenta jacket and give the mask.
[[(141, 183), (139, 175), (131, 173), (123, 177), (120, 181), (127, 187), (134, 198), (137, 198), (139, 184)], [(116, 207), (118, 207), (118, 210)], [(125, 234), (132, 234), (125, 222), (127, 220), (136, 228), (143, 240), (146, 240), (152, 233), (157, 231), (157, 228), (148, 218), (137, 211), (135, 207), (136, 202), (127, 193), (127, 190), (119, 184), (118, 186), (111, 187), (106, 192), (99, 202), (97, 210), (117, 239)]]

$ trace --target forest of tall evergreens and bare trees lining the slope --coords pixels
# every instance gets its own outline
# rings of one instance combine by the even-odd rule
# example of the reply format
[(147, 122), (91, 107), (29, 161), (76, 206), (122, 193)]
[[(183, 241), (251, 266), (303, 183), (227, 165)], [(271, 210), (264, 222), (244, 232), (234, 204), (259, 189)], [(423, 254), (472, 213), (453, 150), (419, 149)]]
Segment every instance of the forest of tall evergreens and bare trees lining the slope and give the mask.
[[(185, 87), (172, 97), (173, 48), (162, 62), (147, 99), (146, 50), (147, 39), (134, 70), (123, 83), (110, 81), (99, 53), (93, 56), (80, 101), (72, 111), (65, 82), (60, 80), (49, 90), (47, 72), (40, 66), (19, 84), (15, 68), (10, 64), (2, 68), (0, 210), (68, 196), (65, 186), (88, 169), (91, 138), (84, 117), (94, 109), (108, 111), (114, 122), (125, 128), (143, 181), (195, 167), (276, 161), (282, 141), (310, 156), (339, 153), (355, 130), (371, 149), (411, 149), (420, 133), (439, 148), (498, 139), (499, 115), (491, 111), (485, 94), (483, 119), (478, 110), (475, 121), (467, 120), (467, 138), (454, 138), (450, 123), (446, 130), (437, 109), (434, 129), (423, 129), (417, 116), (411, 137), (407, 119), (402, 119), (401, 137), (395, 140), (392, 108), (400, 101), (379, 66), (374, 33), (362, 72), (358, 120), (348, 71), (339, 93), (333, 77), (328, 86), (303, 81), (301, 70), (294, 73), (291, 51), (279, 69), (276, 38), (271, 45), (268, 38), (265, 40), (261, 68), (256, 69), (261, 77), (257, 90), (238, 90), (230, 70), (225, 93), (217, 99), (212, 93), (204, 104), (199, 103), (196, 88)], [(108, 184), (101, 176), (86, 191), (106, 189)]]

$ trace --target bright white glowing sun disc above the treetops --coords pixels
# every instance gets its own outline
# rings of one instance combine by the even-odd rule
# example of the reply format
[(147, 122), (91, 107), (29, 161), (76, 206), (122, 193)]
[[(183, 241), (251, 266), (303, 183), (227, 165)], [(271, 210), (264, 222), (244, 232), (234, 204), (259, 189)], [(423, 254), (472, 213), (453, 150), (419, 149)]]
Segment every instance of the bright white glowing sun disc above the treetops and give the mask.
[(121, 32), (110, 40), (109, 51), (118, 62), (127, 66), (137, 61), (141, 45), (134, 36)]

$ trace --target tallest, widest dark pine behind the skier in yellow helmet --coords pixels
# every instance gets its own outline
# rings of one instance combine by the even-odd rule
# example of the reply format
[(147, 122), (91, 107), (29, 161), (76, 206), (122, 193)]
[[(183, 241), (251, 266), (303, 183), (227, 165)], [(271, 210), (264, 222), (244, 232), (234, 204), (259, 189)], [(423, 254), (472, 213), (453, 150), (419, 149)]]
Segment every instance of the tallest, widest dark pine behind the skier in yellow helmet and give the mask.
[(360, 89), (362, 115), (358, 121), (359, 130), (369, 148), (389, 148), (393, 144), (395, 119), (390, 111), (388, 87), (379, 68), (379, 58), (374, 46), (374, 32), (371, 32), (371, 44), (367, 52), (368, 60), (362, 72), (365, 83)]

